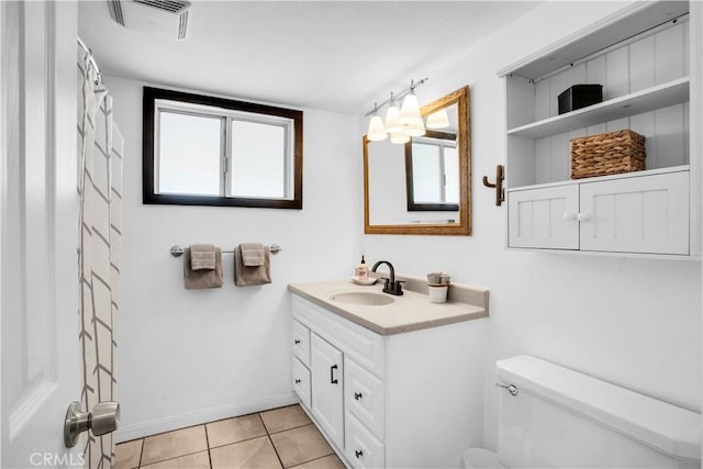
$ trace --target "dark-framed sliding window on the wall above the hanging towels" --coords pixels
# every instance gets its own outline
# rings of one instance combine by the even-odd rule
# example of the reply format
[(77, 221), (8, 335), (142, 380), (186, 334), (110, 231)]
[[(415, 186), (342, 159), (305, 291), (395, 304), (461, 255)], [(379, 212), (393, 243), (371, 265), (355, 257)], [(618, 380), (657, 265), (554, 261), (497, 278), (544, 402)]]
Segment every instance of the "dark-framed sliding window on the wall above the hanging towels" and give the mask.
[[(166, 122), (177, 124), (168, 124), (170, 127), (166, 129)], [(220, 125), (220, 131), (216, 125)], [(199, 127), (209, 129), (207, 137), (202, 133), (198, 134)], [(247, 134), (248, 130), (259, 132)], [(161, 131), (165, 136), (176, 138), (170, 146), (167, 142), (159, 142), (164, 136)], [(215, 138), (219, 142), (210, 141)], [(257, 145), (257, 139), (261, 147), (275, 147), (276, 163), (271, 157), (256, 161), (256, 148), (252, 149), (252, 145)], [(277, 142), (280, 142), (280, 158)], [(174, 165), (172, 160), (177, 160), (159, 154), (160, 148), (166, 147), (179, 147), (177, 150), (181, 153), (180, 161), (188, 164), (187, 167), (176, 168), (180, 171), (178, 174), (182, 186), (188, 188), (182, 192), (178, 189), (178, 182), (164, 181), (165, 175), (175, 174), (168, 172), (168, 169), (174, 168), (159, 165), (166, 165), (167, 161)], [(239, 147), (248, 149), (242, 152), (246, 153), (244, 157), (234, 154)], [(145, 204), (302, 209), (302, 111), (144, 87), (142, 163)], [(208, 161), (199, 161), (207, 158)], [(238, 172), (237, 165), (242, 166), (238, 161), (248, 161), (247, 167), (256, 166), (259, 175), (274, 175), (271, 178), (280, 181), (280, 190), (271, 191), (265, 189), (264, 183), (258, 185), (255, 169), (250, 169), (253, 177), (245, 170)], [(202, 174), (189, 174), (191, 164), (204, 168), (201, 169)], [(217, 169), (216, 175), (213, 168)], [(212, 177), (213, 180), (208, 181), (210, 189), (192, 190), (198, 183), (198, 177)], [(259, 186), (261, 193), (257, 193)]]

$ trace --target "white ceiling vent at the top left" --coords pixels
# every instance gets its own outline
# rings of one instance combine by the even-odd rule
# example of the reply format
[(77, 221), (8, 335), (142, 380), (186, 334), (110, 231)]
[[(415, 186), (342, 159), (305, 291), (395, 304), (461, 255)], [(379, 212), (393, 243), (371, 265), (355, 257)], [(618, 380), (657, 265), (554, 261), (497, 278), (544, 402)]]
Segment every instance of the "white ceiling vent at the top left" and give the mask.
[(108, 0), (110, 16), (127, 30), (185, 40), (190, 2), (179, 0)]

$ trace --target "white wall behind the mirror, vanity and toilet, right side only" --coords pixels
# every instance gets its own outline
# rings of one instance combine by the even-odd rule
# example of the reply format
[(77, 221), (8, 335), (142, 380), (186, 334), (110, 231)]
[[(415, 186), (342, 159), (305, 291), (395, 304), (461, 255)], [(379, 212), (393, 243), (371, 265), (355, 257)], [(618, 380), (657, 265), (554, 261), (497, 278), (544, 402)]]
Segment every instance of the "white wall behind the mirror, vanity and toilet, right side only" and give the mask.
[(546, 2), (466, 54), (408, 74), (431, 78), (417, 91), (422, 102), (471, 88), (473, 235), (366, 235), (361, 248), (368, 261), (389, 259), (402, 273), (443, 270), (453, 281), (490, 289), (489, 448), (496, 436), (494, 362), (517, 354), (700, 411), (701, 264), (506, 252), (506, 208), (496, 208), (493, 190), (481, 185), (505, 159), (504, 85), (495, 71), (622, 7)]

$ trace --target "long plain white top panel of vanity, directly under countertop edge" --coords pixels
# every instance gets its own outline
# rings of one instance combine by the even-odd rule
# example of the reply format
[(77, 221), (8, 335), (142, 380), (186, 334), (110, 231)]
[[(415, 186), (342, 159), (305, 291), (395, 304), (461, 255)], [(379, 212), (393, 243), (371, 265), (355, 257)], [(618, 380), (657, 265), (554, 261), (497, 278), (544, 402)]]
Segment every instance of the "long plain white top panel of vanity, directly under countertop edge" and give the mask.
[(339, 348), (345, 356), (383, 377), (383, 336), (292, 294), (293, 320)]

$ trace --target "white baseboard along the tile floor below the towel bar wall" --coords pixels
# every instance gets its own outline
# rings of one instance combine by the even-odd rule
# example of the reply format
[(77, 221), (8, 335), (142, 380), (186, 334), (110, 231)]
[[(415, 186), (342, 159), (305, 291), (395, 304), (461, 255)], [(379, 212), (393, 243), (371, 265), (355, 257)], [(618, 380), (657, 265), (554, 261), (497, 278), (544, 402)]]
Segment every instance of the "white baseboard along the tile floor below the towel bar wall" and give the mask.
[(247, 402), (221, 405), (217, 407), (202, 409), (180, 415), (169, 415), (136, 424), (121, 426), (114, 433), (115, 443), (130, 442), (145, 436), (156, 435), (174, 429), (186, 428), (193, 425), (201, 425), (223, 418), (231, 418), (239, 415), (253, 414), (255, 412), (267, 411), (269, 409), (282, 407), (300, 402), (294, 391), (283, 394), (269, 395)]

